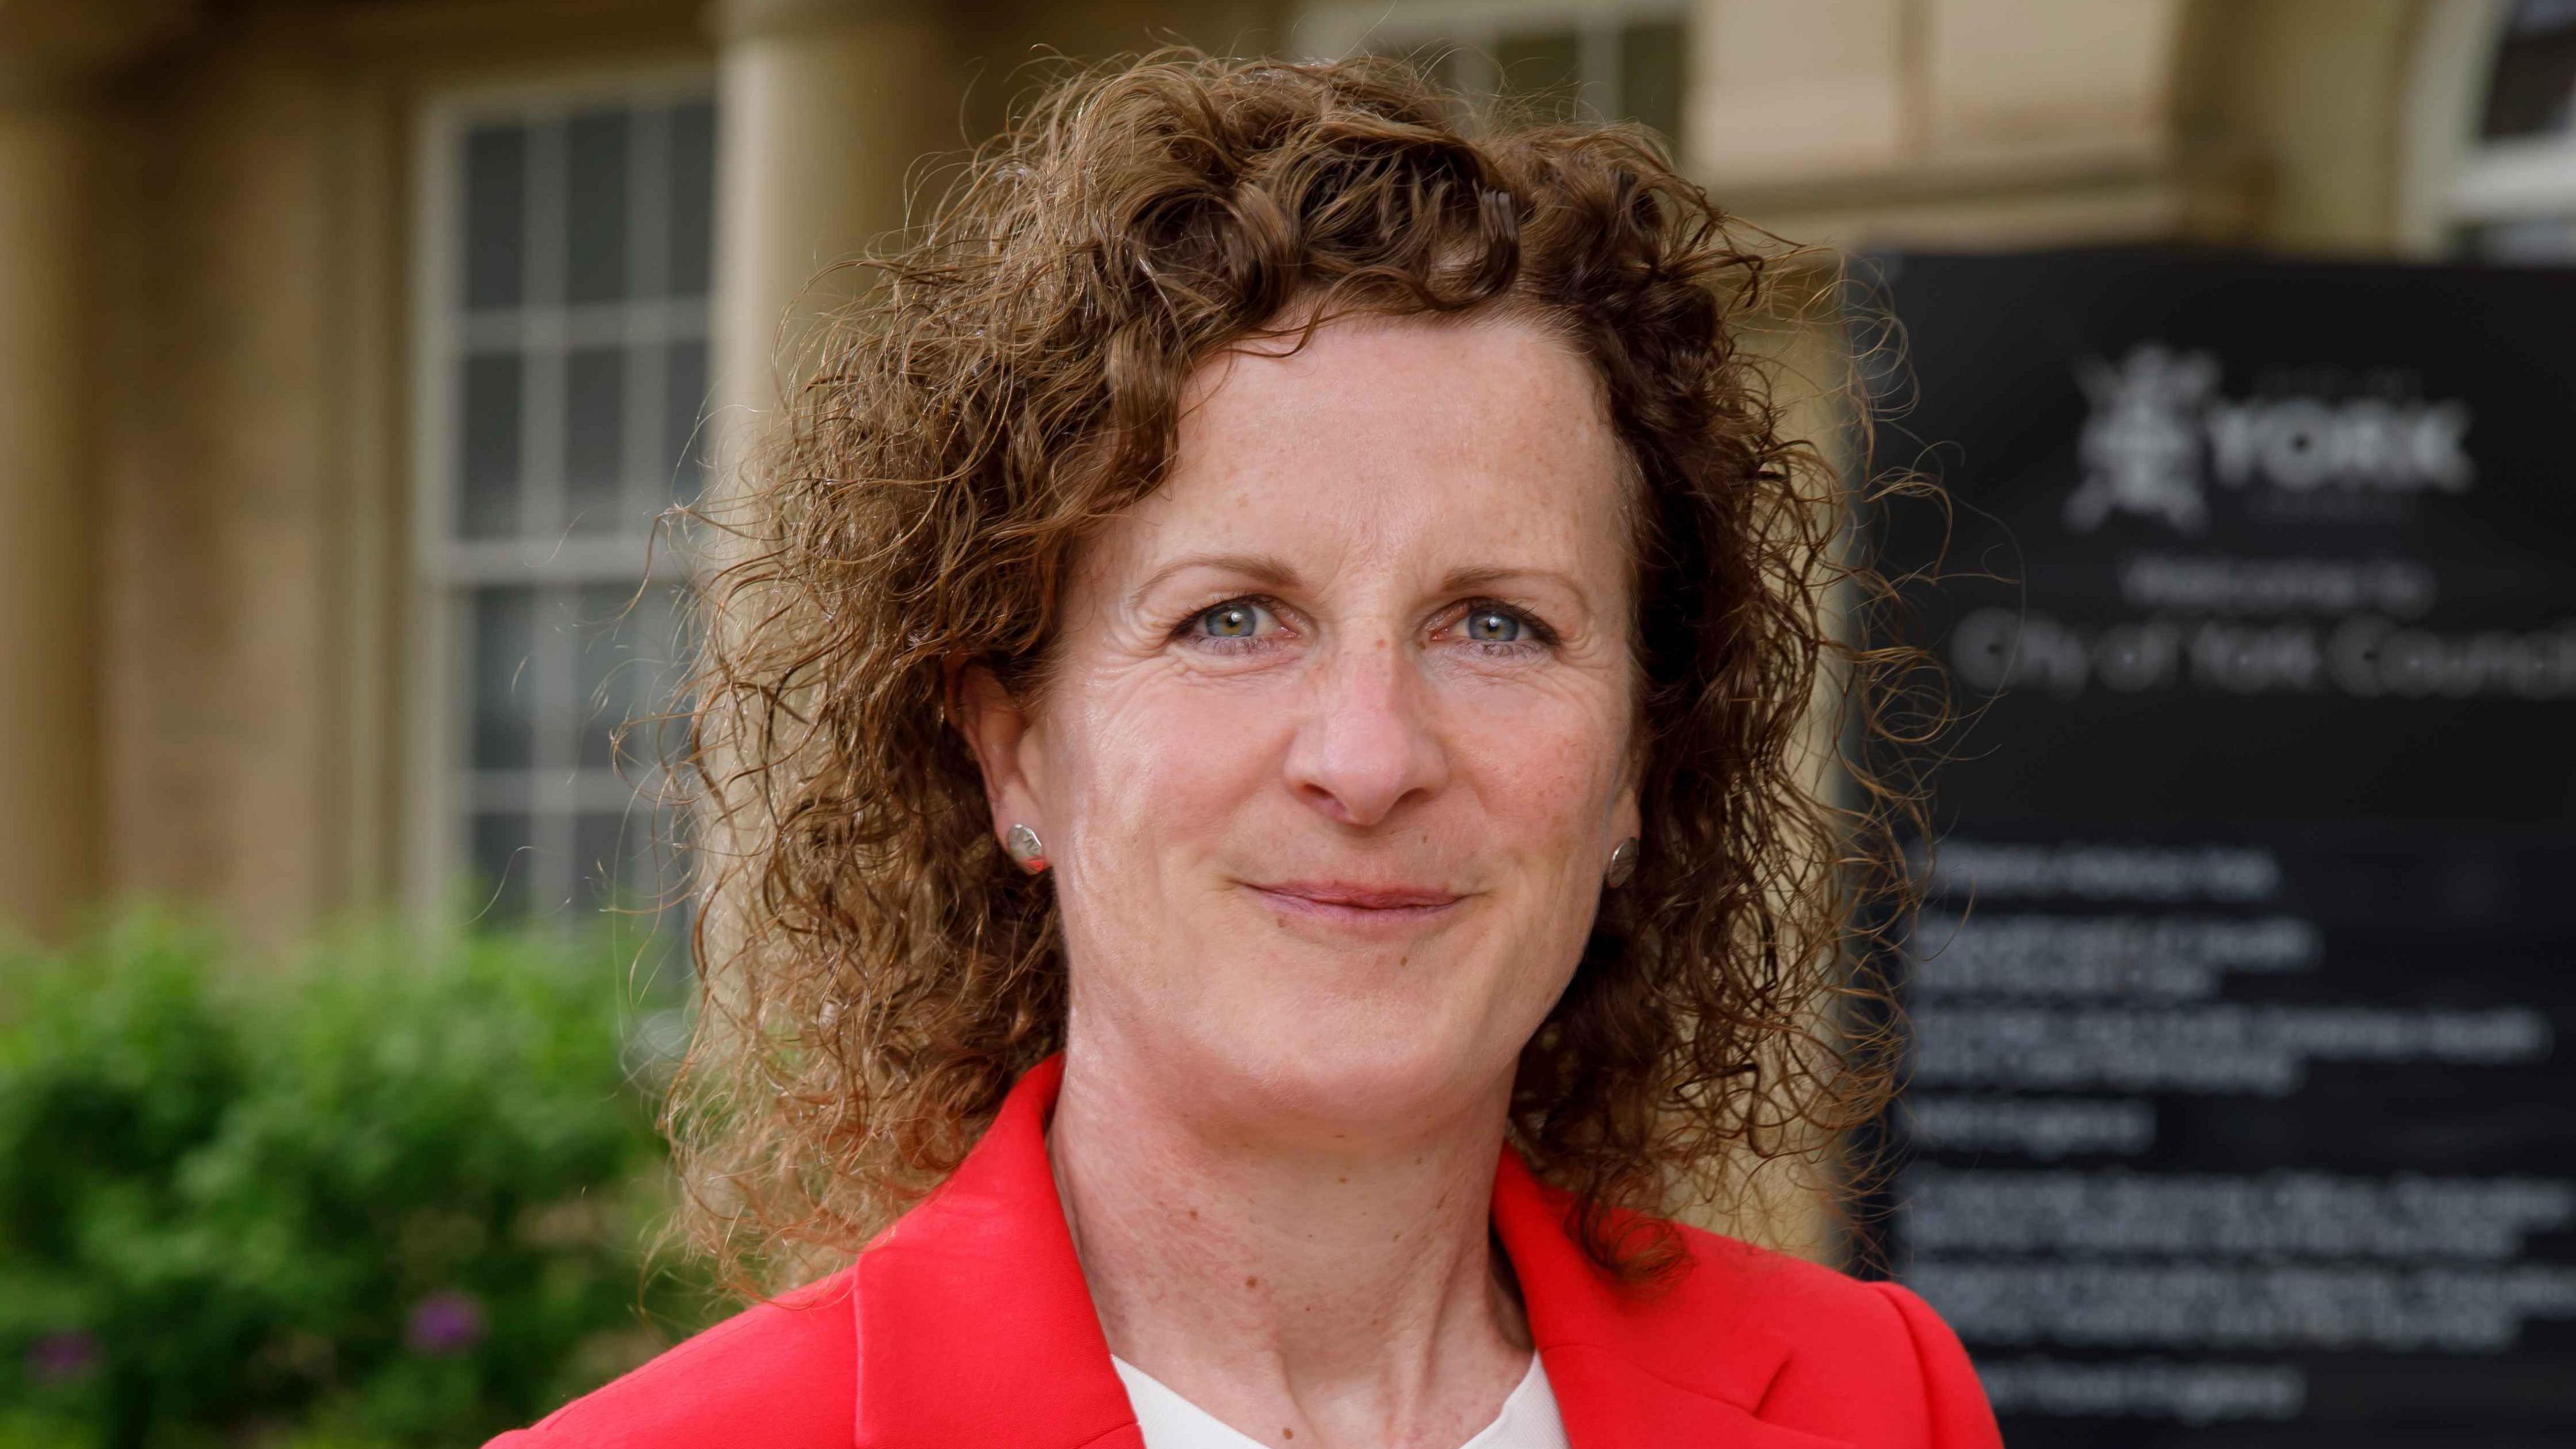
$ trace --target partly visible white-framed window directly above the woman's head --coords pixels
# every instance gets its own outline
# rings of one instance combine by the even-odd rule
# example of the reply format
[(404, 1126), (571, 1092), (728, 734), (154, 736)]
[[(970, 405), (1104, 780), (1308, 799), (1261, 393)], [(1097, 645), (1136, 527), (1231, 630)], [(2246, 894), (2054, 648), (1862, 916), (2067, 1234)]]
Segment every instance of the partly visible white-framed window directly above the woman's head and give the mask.
[(1468, 95), (1530, 95), (1569, 113), (1643, 121), (1680, 144), (1690, 83), (1682, 0), (1394, 0), (1311, 5), (1303, 52), (1419, 57)]

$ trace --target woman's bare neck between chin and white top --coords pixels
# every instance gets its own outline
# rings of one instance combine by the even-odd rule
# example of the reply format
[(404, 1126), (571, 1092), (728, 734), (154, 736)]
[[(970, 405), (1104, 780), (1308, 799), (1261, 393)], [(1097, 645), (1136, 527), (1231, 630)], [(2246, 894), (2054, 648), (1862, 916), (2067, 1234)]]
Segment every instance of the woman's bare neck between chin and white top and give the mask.
[(1283, 1137), (1149, 1060), (1074, 1042), (1048, 1129), (1110, 1351), (1265, 1444), (1484, 1428), (1530, 1361), (1486, 1222), (1510, 1083), (1401, 1132)]

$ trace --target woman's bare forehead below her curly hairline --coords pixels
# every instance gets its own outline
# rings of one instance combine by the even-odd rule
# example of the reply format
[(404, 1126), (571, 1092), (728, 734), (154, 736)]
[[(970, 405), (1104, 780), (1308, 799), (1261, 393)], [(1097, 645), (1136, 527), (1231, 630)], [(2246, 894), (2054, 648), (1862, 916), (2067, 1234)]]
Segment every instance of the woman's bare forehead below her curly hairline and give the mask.
[(1577, 351), (1515, 320), (1340, 320), (1257, 343), (1182, 394), (1154, 498), (1100, 562), (1242, 547), (1301, 567), (1625, 572), (1625, 454)]

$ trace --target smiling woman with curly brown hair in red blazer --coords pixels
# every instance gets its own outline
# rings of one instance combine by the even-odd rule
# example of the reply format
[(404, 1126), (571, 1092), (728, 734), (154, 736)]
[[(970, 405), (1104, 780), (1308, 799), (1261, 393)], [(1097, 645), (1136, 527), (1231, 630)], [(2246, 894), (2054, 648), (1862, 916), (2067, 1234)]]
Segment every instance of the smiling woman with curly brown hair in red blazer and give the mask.
[(1700, 191), (1157, 57), (886, 266), (716, 590), (677, 1098), (732, 1263), (866, 1250), (507, 1441), (1994, 1444), (1919, 1299), (1659, 1217), (1886, 1088)]

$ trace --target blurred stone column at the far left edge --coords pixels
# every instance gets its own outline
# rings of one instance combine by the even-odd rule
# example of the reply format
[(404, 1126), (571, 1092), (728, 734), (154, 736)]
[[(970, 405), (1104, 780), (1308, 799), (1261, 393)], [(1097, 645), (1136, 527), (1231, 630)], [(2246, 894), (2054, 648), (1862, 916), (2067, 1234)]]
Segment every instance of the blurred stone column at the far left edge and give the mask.
[(0, 933), (98, 895), (95, 77), (180, 3), (0, 8)]

